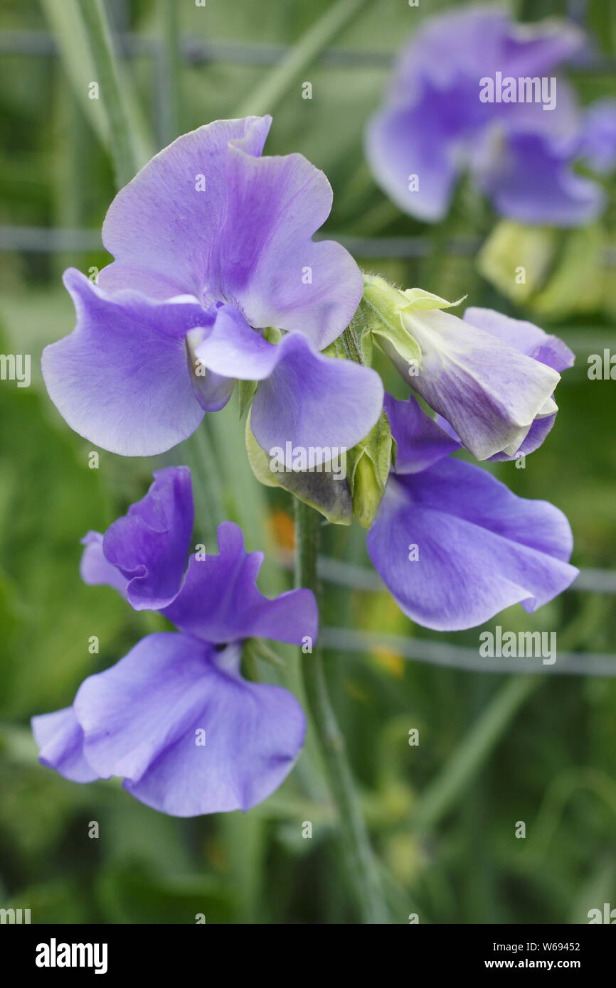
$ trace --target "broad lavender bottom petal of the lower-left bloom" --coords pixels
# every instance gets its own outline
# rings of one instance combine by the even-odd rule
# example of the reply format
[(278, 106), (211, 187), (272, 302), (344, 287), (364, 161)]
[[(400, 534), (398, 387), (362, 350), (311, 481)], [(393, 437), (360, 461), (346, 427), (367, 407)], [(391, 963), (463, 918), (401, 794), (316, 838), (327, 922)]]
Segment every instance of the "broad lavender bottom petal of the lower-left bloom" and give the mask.
[(236, 646), (184, 634), (143, 638), (87, 679), (74, 706), (99, 776), (120, 776), (173, 816), (254, 806), (288, 775), (306, 732), (292, 694), (242, 679)]

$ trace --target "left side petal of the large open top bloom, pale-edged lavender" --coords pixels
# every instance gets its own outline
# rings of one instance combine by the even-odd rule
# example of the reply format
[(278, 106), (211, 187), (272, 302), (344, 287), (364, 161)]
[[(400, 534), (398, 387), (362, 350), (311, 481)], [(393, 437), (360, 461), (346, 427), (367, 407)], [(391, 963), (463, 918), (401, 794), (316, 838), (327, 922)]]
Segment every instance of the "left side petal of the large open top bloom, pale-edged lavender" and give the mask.
[(49, 396), (71, 429), (125, 456), (164, 453), (198, 427), (204, 410), (186, 335), (209, 317), (195, 300), (113, 296), (74, 269), (64, 276), (77, 313), (70, 336), (45, 347)]

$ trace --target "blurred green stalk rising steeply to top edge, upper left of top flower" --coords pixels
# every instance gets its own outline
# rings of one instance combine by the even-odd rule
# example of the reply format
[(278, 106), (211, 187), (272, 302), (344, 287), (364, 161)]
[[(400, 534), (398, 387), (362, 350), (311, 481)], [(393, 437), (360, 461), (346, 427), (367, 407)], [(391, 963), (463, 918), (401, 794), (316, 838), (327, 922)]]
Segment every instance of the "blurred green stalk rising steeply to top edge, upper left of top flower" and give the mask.
[(109, 146), (116, 183), (127, 185), (145, 163), (147, 153), (139, 140), (139, 122), (130, 109), (129, 91), (114, 50), (107, 11), (102, 0), (78, 0), (99, 84), (100, 100), (109, 124)]

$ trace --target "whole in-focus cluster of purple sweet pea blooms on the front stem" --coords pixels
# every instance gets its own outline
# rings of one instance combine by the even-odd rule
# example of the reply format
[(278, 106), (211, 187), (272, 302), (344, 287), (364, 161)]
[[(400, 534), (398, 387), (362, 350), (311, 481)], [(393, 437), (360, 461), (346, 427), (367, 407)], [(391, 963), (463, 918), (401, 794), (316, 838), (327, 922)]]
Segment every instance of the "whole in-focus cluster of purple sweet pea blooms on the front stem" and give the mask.
[[(532, 51), (533, 65), (548, 57), (541, 44)], [(562, 53), (558, 44), (550, 51)], [(188, 437), (236, 379), (251, 381), (260, 447), (309, 449), (315, 465), (364, 441), (385, 409), (396, 455), (391, 464), (388, 447), (383, 500), (376, 517), (367, 513), (368, 550), (399, 607), (443, 630), (514, 603), (534, 610), (576, 574), (567, 520), (451, 454), (464, 446), (494, 460), (537, 449), (571, 351), (530, 323), (481, 309), (459, 319), (436, 295), (366, 278), (365, 304), (391, 310), (367, 334), (436, 418), (412, 395), (384, 396), (379, 374), (337, 349), (323, 355), (357, 309), (362, 275), (339, 244), (311, 240), (331, 190), (301, 155), (261, 156), (269, 126), (247, 118), (201, 127), (120, 192), (103, 229), (116, 259), (100, 284), (65, 276), (77, 326), (44, 352), (52, 400), (91, 442), (148, 455)], [(137, 799), (178, 816), (247, 809), (289, 773), (305, 718), (286, 690), (242, 677), (242, 649), (249, 638), (312, 642), (315, 601), (305, 589), (264, 598), (262, 556), (245, 552), (229, 522), (219, 553), (197, 552), (187, 565), (190, 473), (168, 467), (154, 477), (104, 535), (84, 537), (81, 575), (177, 631), (147, 635), (90, 676), (70, 707), (35, 717), (41, 759), (74, 782), (120, 777)]]

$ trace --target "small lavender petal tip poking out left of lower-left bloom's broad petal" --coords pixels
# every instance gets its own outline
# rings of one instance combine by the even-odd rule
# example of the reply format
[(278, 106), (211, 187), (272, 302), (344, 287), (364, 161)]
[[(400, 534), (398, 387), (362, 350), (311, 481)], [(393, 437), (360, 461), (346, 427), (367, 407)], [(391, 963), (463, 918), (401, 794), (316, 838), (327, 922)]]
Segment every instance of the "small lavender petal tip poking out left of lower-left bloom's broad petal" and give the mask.
[(83, 754), (83, 731), (72, 706), (32, 718), (39, 761), (71, 782), (94, 782), (100, 777)]

